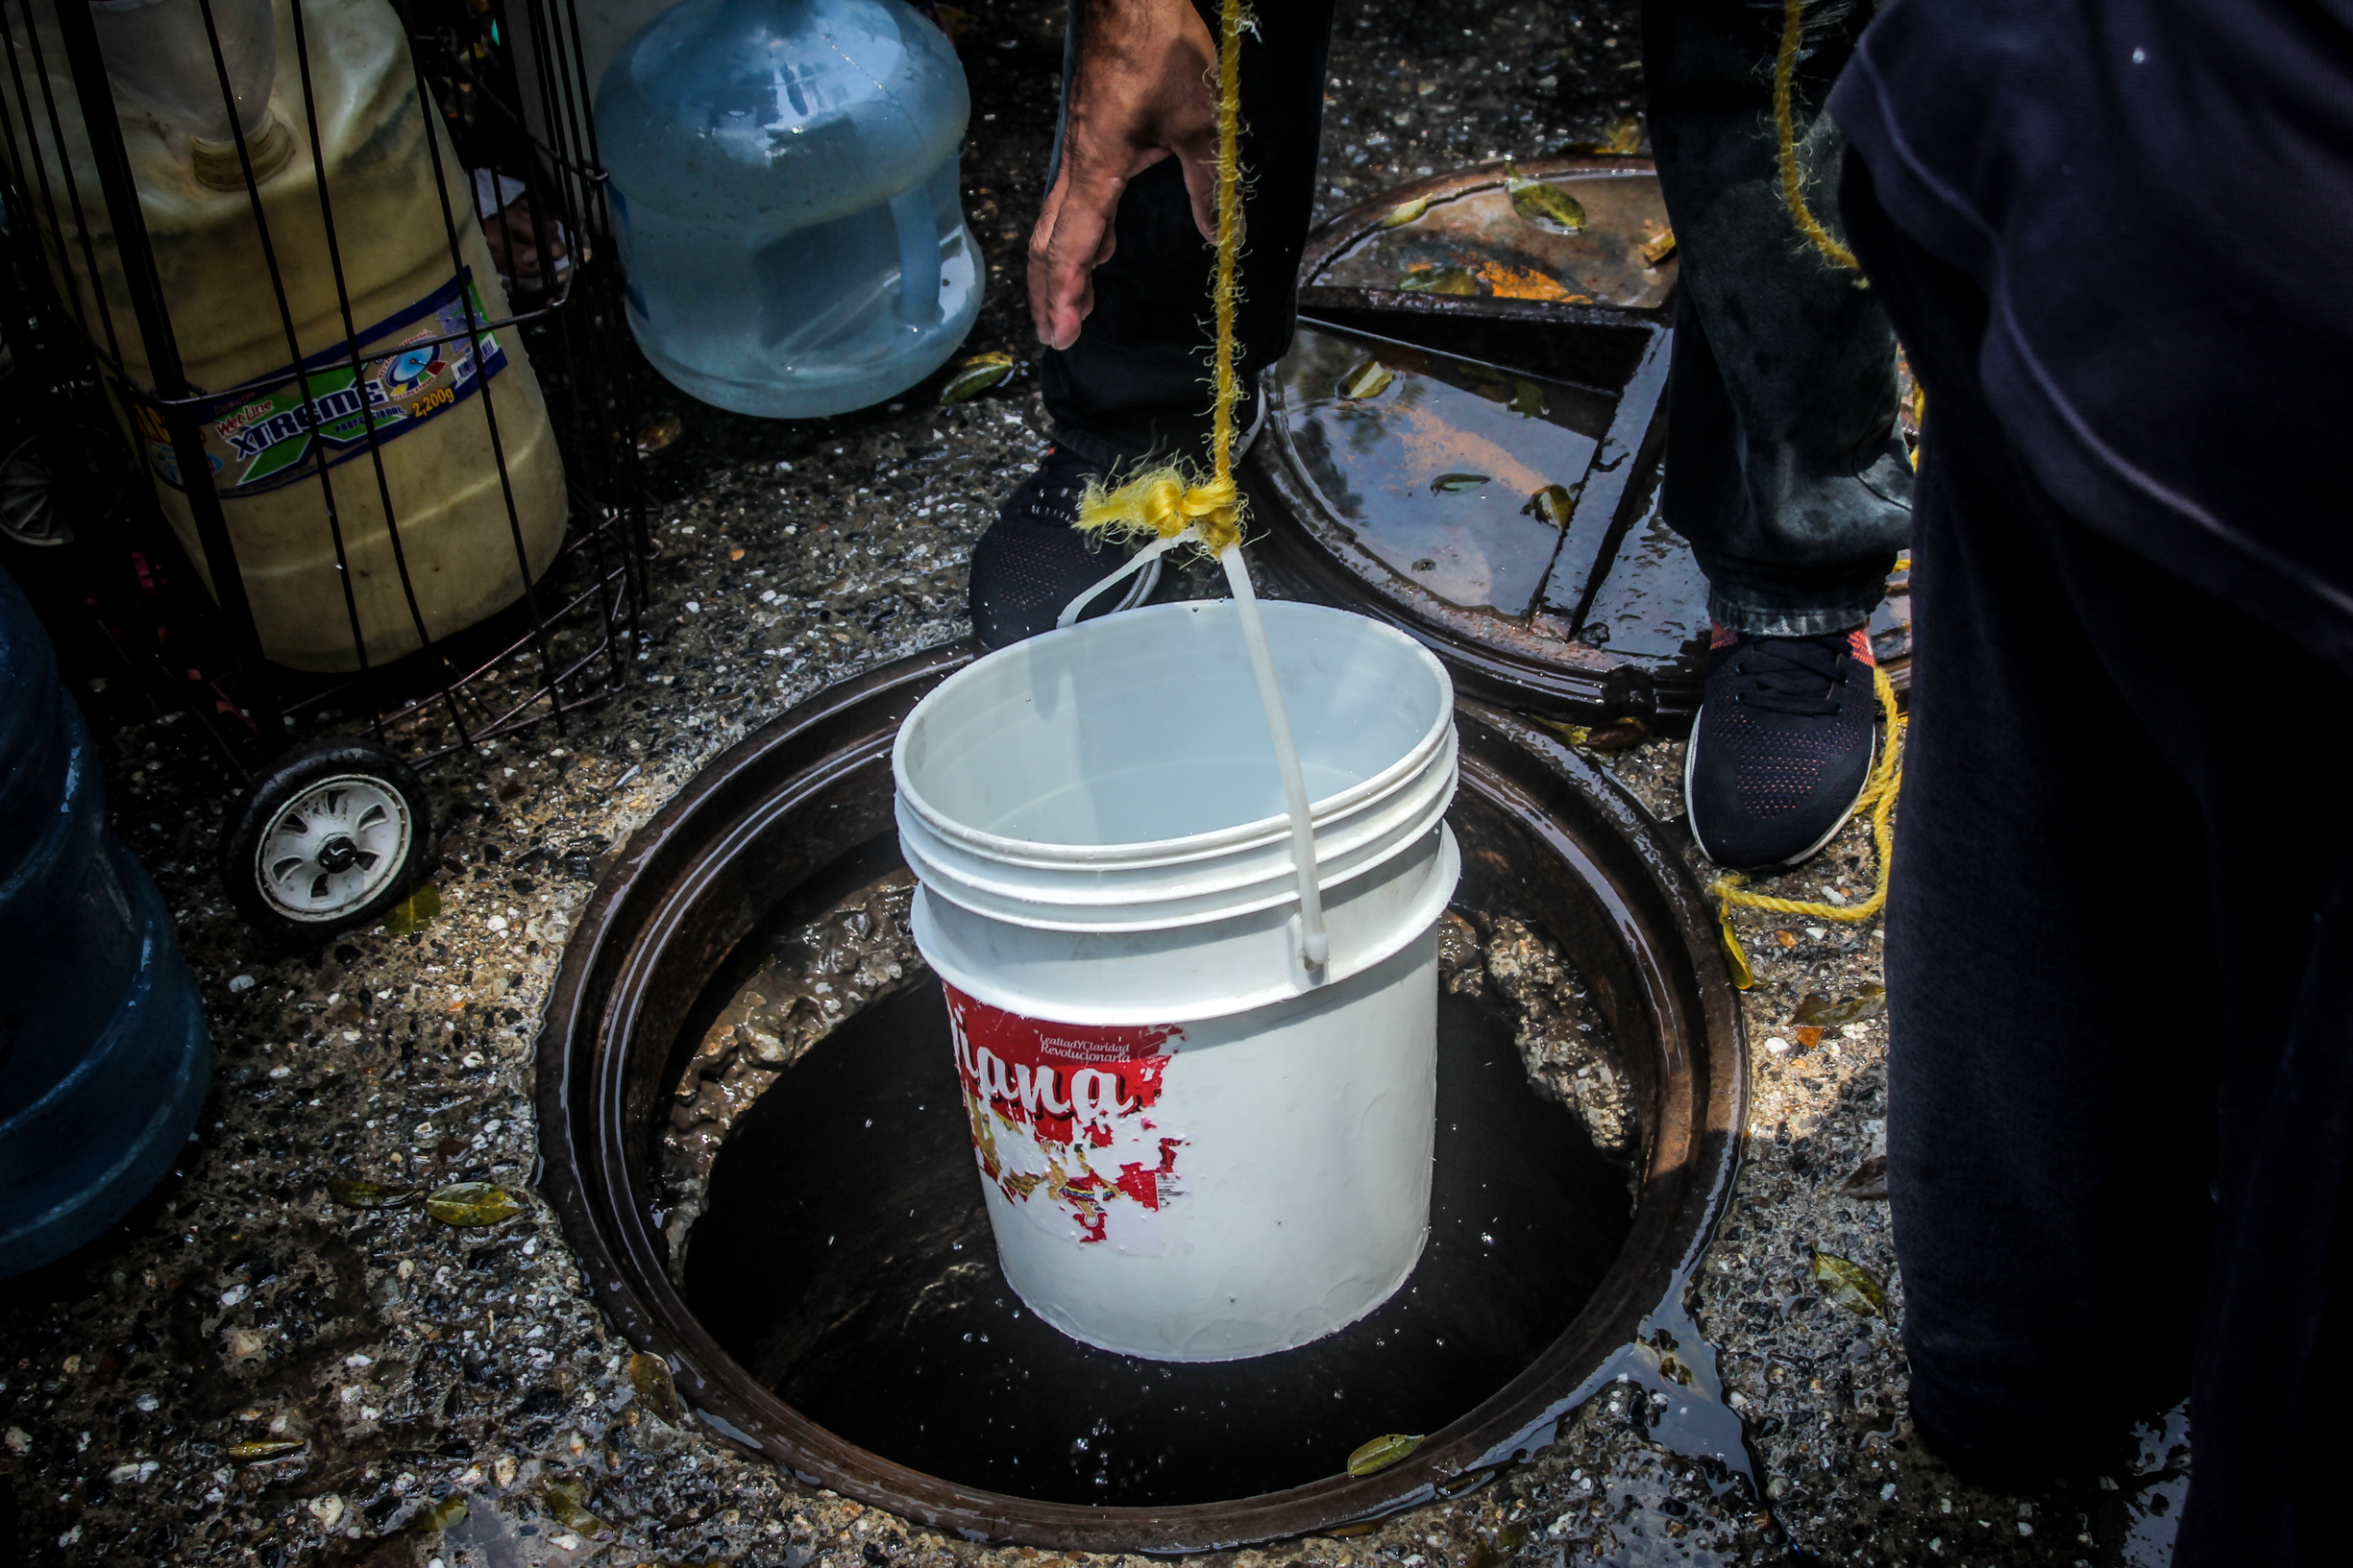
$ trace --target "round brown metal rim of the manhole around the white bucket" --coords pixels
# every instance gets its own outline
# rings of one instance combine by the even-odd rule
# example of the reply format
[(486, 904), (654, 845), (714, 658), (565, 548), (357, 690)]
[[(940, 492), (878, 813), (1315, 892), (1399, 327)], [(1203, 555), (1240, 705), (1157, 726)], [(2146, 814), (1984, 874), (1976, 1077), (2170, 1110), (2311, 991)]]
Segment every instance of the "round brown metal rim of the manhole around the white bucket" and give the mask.
[[(536, 1110), (539, 1190), (579, 1253), (588, 1295), (624, 1340), (673, 1366), (682, 1403), (715, 1434), (807, 1486), (974, 1542), (1151, 1554), (1226, 1549), (1377, 1519), (1438, 1500), (1449, 1483), (1459, 1495), (1482, 1472), (1541, 1448), (1605, 1361), (1631, 1342), (1638, 1321), (1680, 1288), (1729, 1201), (1746, 1124), (1746, 1044), (1737, 992), (1689, 867), (1595, 764), (1539, 726), (1478, 703), (1459, 703), (1459, 712), (1485, 736), (1482, 757), (1499, 750), (1515, 769), (1466, 755), (1466, 788), (1511, 816), (1504, 797), (1525, 795), (1529, 778), (1537, 788), (1551, 776), (1555, 788), (1577, 790), (1567, 783), (1574, 778), (1595, 816), (1607, 820), (1614, 842), (1600, 849), (1621, 860), (1617, 867), (1600, 865), (1595, 846), (1569, 835), (1558, 816), (1513, 818), (1548, 837), (1555, 858), (1614, 919), (1642, 990), (1635, 1004), (1659, 1025), (1657, 1084), (1678, 1084), (1682, 1105), (1675, 1114), (1666, 1088), (1652, 1095), (1642, 1194), (1626, 1244), (1577, 1319), (1511, 1382), (1431, 1434), (1409, 1460), (1372, 1476), (1327, 1476), (1280, 1493), (1176, 1507), (1087, 1507), (986, 1493), (847, 1443), (765, 1389), (701, 1328), (668, 1279), (645, 1201), (645, 1126), (659, 1112), (631, 1114), (621, 1072), (631, 1032), (647, 1011), (645, 987), (668, 945), (685, 938), (694, 900), (725, 884), (727, 856), (878, 764), (887, 778), (889, 741), (906, 708), (974, 651), (967, 639), (899, 658), (753, 731), (631, 837), (581, 907), (536, 1048)], [(1633, 910), (1628, 893), (1652, 907)], [(1645, 922), (1659, 924), (1661, 914), (1668, 943), (1642, 936)], [(739, 938), (741, 931), (699, 954), (701, 973)], [(671, 1044), (661, 1039), (664, 1056)]]

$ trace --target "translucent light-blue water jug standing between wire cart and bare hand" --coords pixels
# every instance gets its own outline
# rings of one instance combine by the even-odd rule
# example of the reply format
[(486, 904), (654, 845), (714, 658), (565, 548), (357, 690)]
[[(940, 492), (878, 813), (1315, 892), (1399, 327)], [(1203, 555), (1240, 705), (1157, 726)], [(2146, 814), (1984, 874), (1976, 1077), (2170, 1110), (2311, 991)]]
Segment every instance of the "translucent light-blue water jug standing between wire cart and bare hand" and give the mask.
[(958, 207), (972, 118), (901, 0), (687, 0), (595, 99), (628, 324), (675, 386), (814, 418), (939, 369), (981, 308)]

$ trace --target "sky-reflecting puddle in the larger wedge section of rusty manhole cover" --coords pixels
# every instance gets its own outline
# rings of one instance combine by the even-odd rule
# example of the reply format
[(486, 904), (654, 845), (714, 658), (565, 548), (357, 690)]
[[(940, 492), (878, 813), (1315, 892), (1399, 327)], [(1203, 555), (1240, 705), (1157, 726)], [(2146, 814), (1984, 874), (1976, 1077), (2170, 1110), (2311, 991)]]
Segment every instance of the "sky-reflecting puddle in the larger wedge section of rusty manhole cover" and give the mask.
[(1464, 609), (1534, 609), (1609, 395), (1313, 327), (1282, 381), (1292, 449), (1360, 548)]

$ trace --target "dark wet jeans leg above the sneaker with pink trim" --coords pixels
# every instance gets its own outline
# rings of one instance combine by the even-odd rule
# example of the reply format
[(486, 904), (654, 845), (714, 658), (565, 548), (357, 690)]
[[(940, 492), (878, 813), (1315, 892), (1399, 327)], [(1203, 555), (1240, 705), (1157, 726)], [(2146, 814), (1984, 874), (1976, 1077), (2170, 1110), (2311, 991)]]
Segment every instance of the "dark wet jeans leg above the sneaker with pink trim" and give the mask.
[[(1857, 5), (1798, 66), (1800, 127), (1871, 21)], [(1781, 9), (1645, 0), (1649, 139), (1682, 256), (1664, 515), (1732, 630), (1835, 632), (1885, 597), (1908, 536), (1894, 331), (1781, 205), (1772, 61)], [(1828, 202), (1824, 202), (1826, 207)]]

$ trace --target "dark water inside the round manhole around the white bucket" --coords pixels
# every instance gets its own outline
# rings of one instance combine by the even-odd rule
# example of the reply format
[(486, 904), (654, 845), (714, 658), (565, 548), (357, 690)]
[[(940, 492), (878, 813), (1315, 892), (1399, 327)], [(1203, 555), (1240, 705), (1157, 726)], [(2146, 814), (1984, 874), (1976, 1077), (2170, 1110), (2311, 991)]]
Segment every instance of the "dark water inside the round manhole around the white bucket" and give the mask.
[(1440, 999), (1428, 1248), (1391, 1302), (1297, 1352), (1139, 1361), (1021, 1309), (929, 978), (845, 1020), (736, 1117), (685, 1293), (805, 1415), (969, 1486), (1176, 1505), (1329, 1476), (1513, 1378), (1626, 1239), (1626, 1168), (1529, 1091), (1515, 1027), (1506, 1006)]

